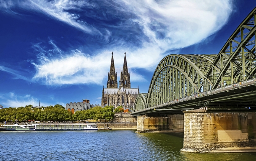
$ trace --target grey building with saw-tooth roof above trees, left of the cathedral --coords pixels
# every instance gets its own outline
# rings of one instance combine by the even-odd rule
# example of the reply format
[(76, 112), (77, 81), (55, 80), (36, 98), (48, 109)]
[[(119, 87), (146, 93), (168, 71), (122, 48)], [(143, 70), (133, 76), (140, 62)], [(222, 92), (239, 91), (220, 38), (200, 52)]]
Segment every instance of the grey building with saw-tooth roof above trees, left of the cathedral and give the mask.
[(83, 100), (83, 102), (70, 102), (66, 104), (66, 110), (71, 111), (73, 114), (76, 111), (89, 110), (92, 107), (99, 105), (91, 105), (90, 100)]

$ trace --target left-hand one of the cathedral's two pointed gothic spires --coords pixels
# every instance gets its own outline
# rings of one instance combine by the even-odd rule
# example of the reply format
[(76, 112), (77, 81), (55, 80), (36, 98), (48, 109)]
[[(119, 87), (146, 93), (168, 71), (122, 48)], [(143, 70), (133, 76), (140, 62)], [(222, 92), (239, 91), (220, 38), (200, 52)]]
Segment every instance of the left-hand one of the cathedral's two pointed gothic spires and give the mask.
[(107, 88), (118, 88), (118, 75), (115, 72), (113, 52), (110, 64), (110, 72), (108, 72)]

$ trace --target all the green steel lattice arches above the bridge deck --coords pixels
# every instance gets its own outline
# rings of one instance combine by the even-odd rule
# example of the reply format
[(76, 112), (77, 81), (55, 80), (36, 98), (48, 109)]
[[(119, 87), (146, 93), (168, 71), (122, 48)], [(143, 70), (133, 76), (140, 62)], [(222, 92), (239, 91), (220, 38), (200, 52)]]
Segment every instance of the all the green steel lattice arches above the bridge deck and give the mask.
[(166, 56), (153, 74), (148, 94), (138, 95), (136, 111), (255, 77), (255, 22), (256, 8), (219, 54)]

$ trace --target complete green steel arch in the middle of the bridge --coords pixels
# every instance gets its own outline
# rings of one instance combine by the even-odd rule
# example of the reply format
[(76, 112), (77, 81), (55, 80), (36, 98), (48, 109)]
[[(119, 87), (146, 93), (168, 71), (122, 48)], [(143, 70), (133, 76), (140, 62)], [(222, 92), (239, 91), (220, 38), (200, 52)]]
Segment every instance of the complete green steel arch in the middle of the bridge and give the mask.
[(172, 54), (162, 59), (149, 86), (148, 107), (204, 91), (205, 74), (213, 58), (214, 55)]

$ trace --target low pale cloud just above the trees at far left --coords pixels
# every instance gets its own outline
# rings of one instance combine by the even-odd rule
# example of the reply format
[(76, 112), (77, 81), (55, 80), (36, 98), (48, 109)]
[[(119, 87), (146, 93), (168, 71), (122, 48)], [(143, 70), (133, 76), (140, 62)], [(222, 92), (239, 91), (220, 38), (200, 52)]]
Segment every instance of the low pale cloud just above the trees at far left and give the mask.
[[(39, 100), (31, 95), (16, 95), (13, 92), (1, 94), (1, 102), (4, 107), (25, 107), (26, 105), (39, 105)], [(47, 102), (41, 101), (41, 106), (49, 106)]]

